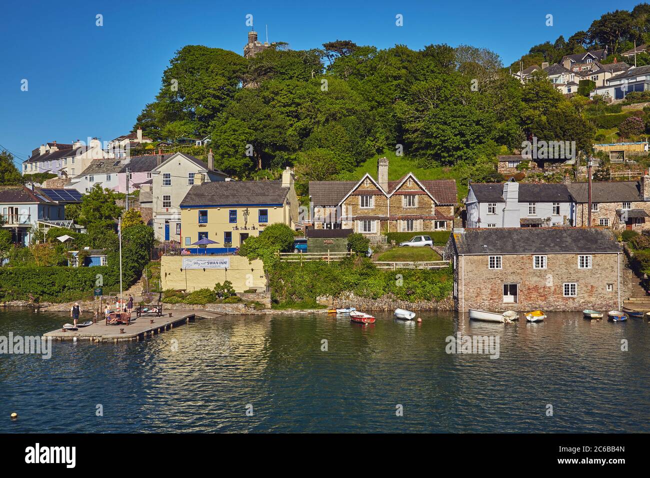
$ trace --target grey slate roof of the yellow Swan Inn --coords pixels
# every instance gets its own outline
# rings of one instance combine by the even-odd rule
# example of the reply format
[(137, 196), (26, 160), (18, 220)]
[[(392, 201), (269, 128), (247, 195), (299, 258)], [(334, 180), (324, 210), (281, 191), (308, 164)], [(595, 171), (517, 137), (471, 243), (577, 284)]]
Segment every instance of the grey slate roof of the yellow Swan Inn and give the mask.
[(214, 181), (194, 185), (185, 194), (181, 207), (283, 204), (288, 187), (282, 181)]

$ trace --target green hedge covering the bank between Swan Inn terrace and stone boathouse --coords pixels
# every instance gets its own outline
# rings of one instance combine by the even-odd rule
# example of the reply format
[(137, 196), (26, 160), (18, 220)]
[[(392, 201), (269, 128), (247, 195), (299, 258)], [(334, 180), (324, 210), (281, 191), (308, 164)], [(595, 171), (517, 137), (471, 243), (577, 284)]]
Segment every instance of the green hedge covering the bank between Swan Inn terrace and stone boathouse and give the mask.
[(316, 297), (337, 297), (352, 291), (359, 297), (378, 299), (393, 294), (398, 299), (443, 300), (450, 297), (454, 280), (445, 269), (377, 269), (370, 259), (346, 259), (328, 264), (281, 262), (269, 274), (271, 295), (279, 304), (313, 302)]

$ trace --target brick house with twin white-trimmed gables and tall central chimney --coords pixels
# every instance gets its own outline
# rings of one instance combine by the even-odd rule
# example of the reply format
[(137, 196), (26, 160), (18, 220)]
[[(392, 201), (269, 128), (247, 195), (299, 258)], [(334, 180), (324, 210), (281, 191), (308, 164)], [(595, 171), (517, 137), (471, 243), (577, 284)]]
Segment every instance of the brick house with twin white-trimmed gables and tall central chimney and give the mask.
[(385, 232), (450, 230), (458, 191), (453, 179), (420, 181), (411, 172), (388, 180), (388, 160), (378, 161), (377, 179), (309, 181), (315, 229)]

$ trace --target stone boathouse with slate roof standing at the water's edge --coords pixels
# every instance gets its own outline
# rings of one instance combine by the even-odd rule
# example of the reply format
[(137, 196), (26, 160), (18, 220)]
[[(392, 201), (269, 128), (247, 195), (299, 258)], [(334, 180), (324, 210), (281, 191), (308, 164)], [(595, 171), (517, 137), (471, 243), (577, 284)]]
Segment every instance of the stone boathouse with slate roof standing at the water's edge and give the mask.
[(623, 303), (623, 250), (603, 228), (457, 229), (446, 252), (459, 312), (606, 312)]

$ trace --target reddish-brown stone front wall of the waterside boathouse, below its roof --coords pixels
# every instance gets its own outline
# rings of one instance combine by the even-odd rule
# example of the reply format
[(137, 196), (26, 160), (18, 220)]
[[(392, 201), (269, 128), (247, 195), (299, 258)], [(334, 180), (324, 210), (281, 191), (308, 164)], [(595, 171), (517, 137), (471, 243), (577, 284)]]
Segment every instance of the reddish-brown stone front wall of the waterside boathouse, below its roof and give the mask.
[[(456, 259), (459, 310), (612, 310), (622, 305), (626, 283), (622, 254), (592, 254), (591, 269), (578, 269), (577, 254), (547, 254), (547, 269), (533, 269), (532, 254), (501, 256), (502, 269), (489, 269), (488, 256)], [(620, 274), (620, 279), (619, 279)], [(619, 280), (621, 293), (619, 294)], [(564, 283), (577, 283), (577, 297), (564, 297)], [(517, 303), (503, 301), (503, 285), (518, 285)], [(612, 291), (607, 291), (607, 285)], [(463, 300), (464, 299), (464, 300)]]

